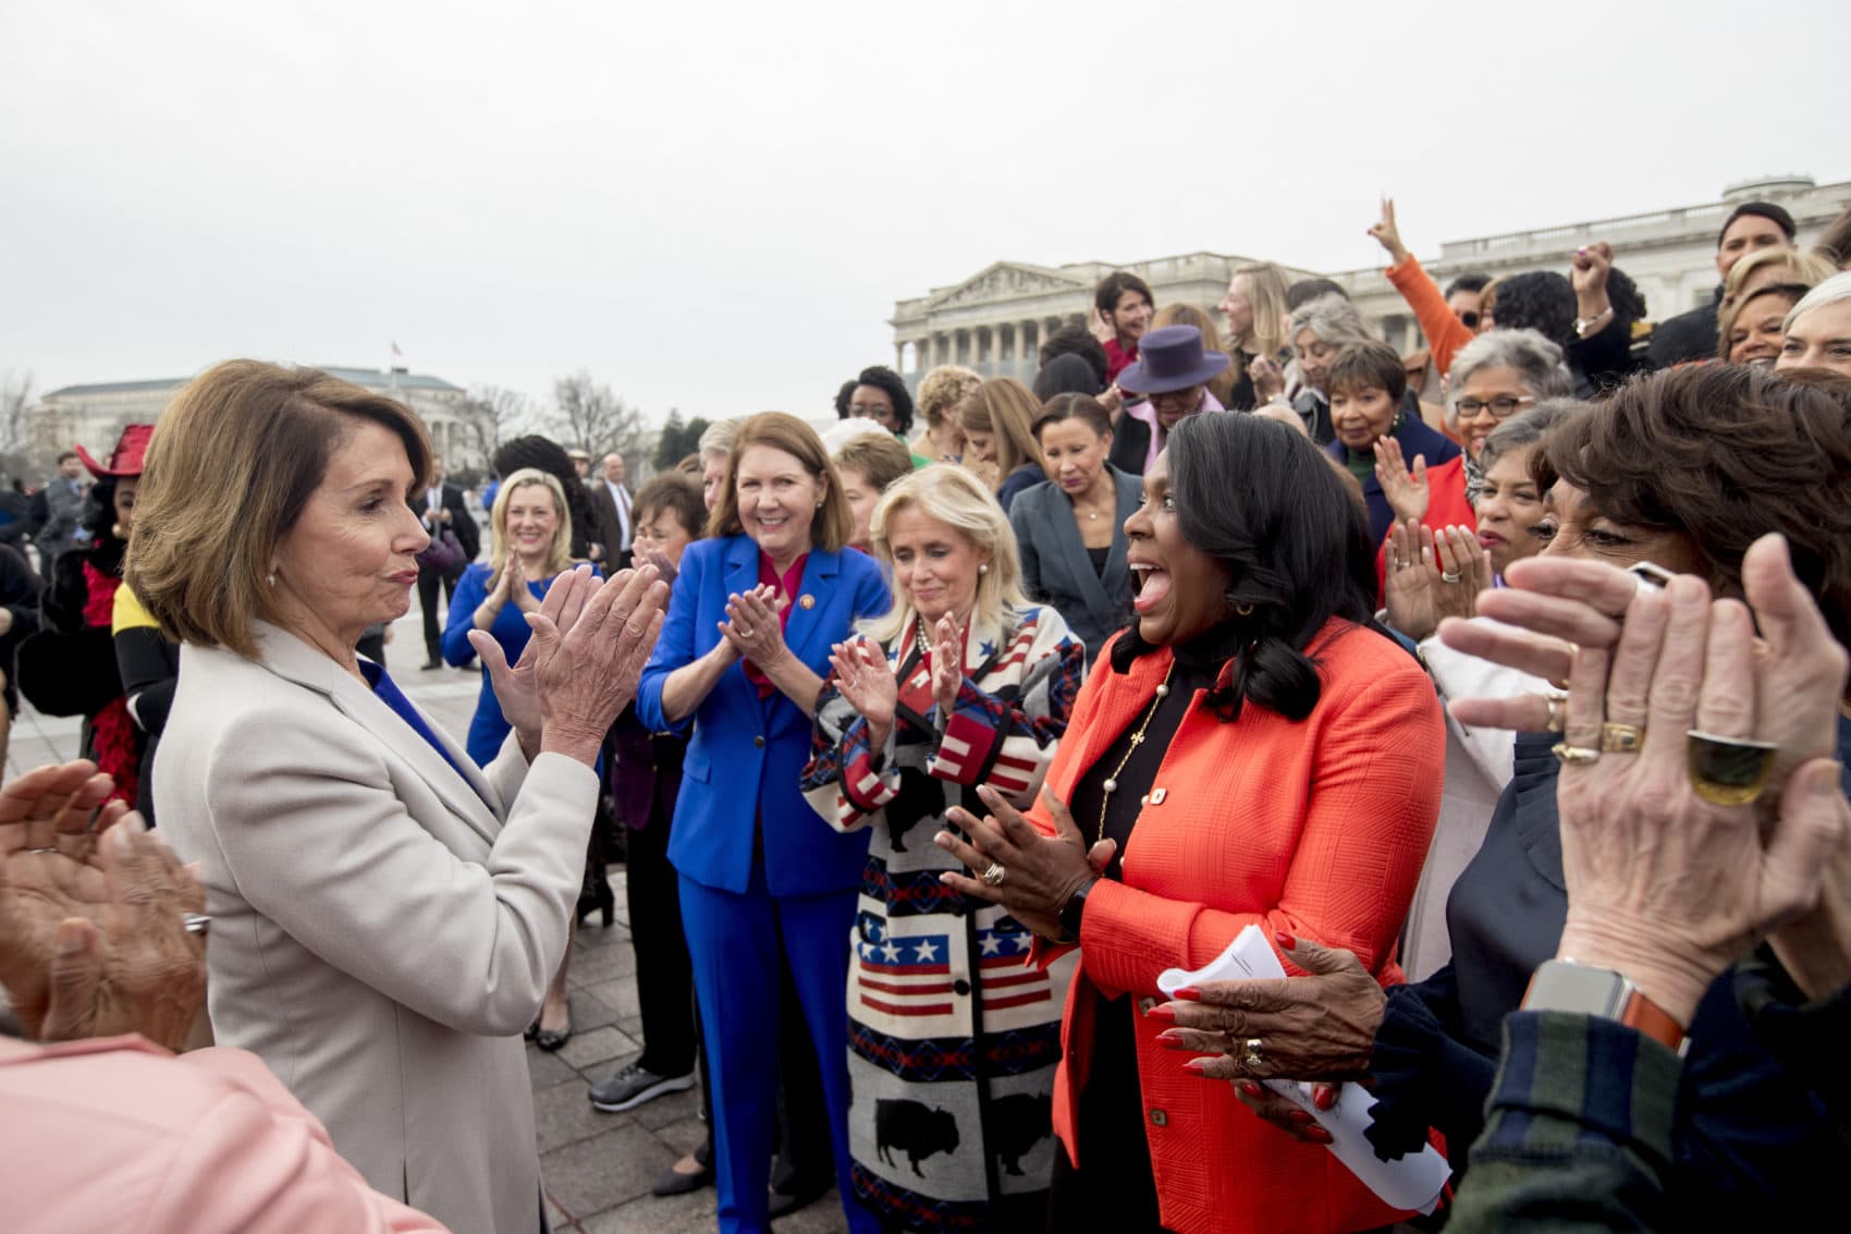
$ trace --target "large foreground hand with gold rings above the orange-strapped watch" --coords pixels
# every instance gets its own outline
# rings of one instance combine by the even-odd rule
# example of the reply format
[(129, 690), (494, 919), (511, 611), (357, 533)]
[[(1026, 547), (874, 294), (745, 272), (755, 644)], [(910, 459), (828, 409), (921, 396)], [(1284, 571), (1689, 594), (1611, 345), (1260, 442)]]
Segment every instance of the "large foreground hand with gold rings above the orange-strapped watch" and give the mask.
[[(1823, 630), (1816, 610), (1812, 621)], [(1836, 673), (1810, 689), (1842, 699), (1844, 674), (1838, 650)], [(1851, 813), (1829, 760), (1770, 793), (1779, 808), (1766, 828), (1744, 813), (1745, 795), (1716, 804), (1710, 776), (1727, 771), (1710, 752), (1753, 752), (1779, 726), (1758, 695), (1749, 610), (1712, 604), (1692, 576), (1662, 593), (1636, 589), (1612, 648), (1583, 647), (1571, 673), (1559, 754), (1573, 758), (1557, 782), (1568, 886), (1559, 954), (1623, 973), (1686, 1026), (1716, 976), (1818, 902), (1820, 869)], [(1764, 762), (1771, 769), (1771, 749)]]

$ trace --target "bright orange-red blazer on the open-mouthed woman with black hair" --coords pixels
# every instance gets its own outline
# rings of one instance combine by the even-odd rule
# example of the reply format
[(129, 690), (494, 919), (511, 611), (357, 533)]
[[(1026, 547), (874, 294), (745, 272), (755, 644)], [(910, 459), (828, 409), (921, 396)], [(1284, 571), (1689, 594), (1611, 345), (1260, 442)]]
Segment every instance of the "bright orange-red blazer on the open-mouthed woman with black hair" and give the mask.
[[(1048, 773), (1061, 800), (1155, 697), (1170, 650), (1111, 669), (1079, 691)], [(1092, 989), (1135, 997), (1144, 1136), (1162, 1223), (1179, 1234), (1364, 1230), (1398, 1214), (1320, 1145), (1262, 1123), (1231, 1084), (1183, 1069), (1146, 1014), (1157, 975), (1194, 969), (1248, 925), (1353, 951), (1388, 986), (1401, 980), (1396, 936), (1440, 812), (1446, 723), (1433, 682), (1405, 650), (1331, 621), (1312, 643), (1323, 693), (1303, 721), (1248, 702), (1222, 723), (1183, 717), (1124, 852), (1124, 882), (1087, 899), (1079, 971), (1061, 1025), (1055, 1134), (1079, 1167), (1074, 1117), (1092, 1051)], [(1031, 819), (1053, 834), (1046, 806)], [(1090, 839), (1090, 836), (1088, 836)], [(1286, 973), (1301, 975), (1290, 962)], [(1088, 989), (1088, 986), (1092, 989)]]

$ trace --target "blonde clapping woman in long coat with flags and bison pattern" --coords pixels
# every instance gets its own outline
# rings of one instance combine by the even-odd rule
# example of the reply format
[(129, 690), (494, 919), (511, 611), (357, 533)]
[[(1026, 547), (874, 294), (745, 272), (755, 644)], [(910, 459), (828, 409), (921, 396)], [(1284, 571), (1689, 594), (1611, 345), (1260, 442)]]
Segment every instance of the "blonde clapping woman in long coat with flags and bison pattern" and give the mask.
[(848, 1138), (855, 1193), (892, 1230), (1040, 1228), (1068, 967), (944, 886), (950, 806), (990, 784), (1027, 806), (1087, 654), (1022, 598), (1009, 521), (959, 467), (896, 482), (874, 513), (894, 606), (837, 647), (803, 791), (872, 828), (850, 943)]

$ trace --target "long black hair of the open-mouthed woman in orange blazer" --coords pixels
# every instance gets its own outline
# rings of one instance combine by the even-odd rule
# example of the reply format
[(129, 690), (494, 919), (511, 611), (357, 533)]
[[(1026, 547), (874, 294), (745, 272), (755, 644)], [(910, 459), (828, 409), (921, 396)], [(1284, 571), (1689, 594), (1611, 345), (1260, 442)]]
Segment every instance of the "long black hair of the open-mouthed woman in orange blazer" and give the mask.
[(1225, 626), (1238, 650), (1209, 704), (1224, 721), (1248, 699), (1305, 719), (1322, 693), (1312, 639), (1333, 617), (1373, 623), (1362, 506), (1305, 434), (1261, 415), (1190, 415), (1168, 452), (1183, 537), (1233, 578)]

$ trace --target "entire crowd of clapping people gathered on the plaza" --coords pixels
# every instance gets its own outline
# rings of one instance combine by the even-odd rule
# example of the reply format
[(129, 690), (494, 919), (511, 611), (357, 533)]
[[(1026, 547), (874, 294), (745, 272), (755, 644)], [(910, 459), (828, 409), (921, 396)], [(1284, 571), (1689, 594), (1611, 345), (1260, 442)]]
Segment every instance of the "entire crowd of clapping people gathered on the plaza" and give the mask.
[[(1031, 384), (868, 367), (635, 495), (503, 443), (485, 552), (398, 402), (207, 371), (0, 610), (85, 717), (0, 791), (9, 1210), (546, 1228), (522, 1036), (622, 858), (644, 1049), (587, 1097), (698, 1077), (655, 1191), (722, 1230), (1818, 1225), (1845, 230), (1742, 204), (1653, 328), (1605, 245), (1442, 289), (1385, 202), (1420, 352), (1114, 272)], [(413, 593), (466, 739), (378, 654)], [(1218, 975), (1249, 928), (1283, 978)], [(1429, 1149), (1418, 1206), (1342, 1156)]]

